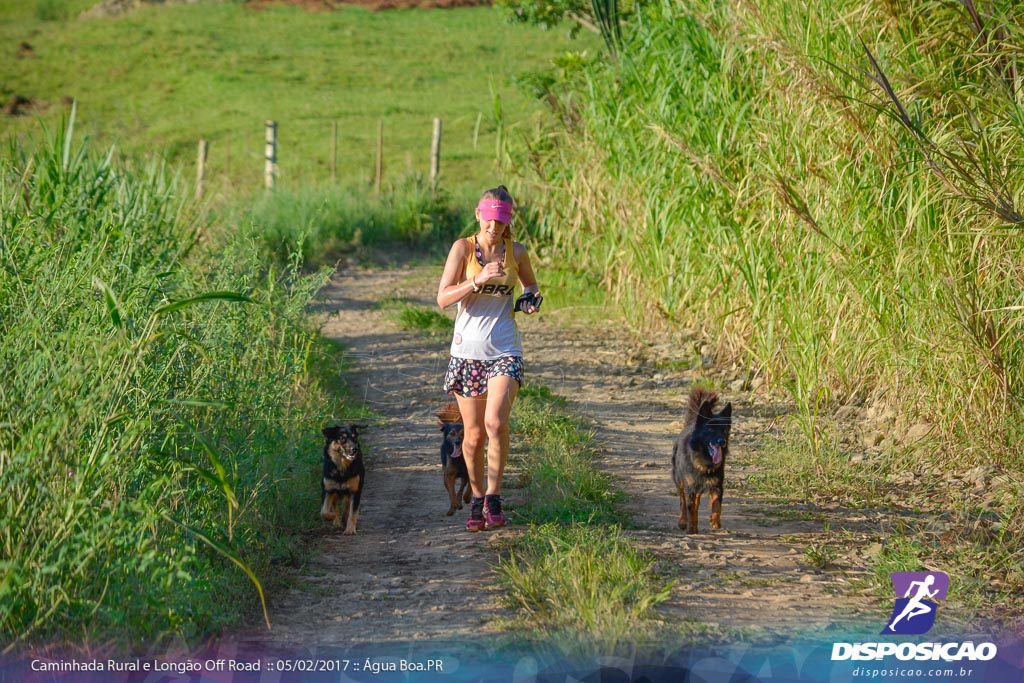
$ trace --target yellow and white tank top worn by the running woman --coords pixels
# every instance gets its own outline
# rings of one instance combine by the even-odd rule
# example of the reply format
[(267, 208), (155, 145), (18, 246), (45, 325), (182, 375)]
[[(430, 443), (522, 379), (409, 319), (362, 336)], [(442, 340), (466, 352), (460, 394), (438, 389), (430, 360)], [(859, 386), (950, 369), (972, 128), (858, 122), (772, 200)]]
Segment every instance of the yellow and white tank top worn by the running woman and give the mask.
[[(476, 260), (476, 237), (466, 240), (466, 280), (480, 272), (483, 266)], [(473, 360), (496, 360), (504, 355), (522, 355), (522, 338), (515, 324), (515, 285), (519, 282), (519, 266), (515, 262), (511, 240), (505, 241), (505, 276), (488, 280), (479, 292), (471, 293), (459, 302), (452, 338), (452, 356)]]

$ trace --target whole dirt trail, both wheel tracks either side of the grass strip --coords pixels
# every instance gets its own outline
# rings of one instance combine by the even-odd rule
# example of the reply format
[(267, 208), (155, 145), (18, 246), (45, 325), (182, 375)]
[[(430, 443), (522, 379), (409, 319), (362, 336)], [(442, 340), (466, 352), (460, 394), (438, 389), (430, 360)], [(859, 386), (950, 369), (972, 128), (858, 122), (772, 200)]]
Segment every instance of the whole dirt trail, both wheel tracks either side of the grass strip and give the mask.
[[(247, 642), (306, 648), (468, 642), (497, 634), (495, 618), (511, 615), (494, 587), (497, 555), (490, 546), (515, 533), (515, 526), (468, 533), (465, 511), (444, 515), (434, 414), (444, 400), (447, 343), (401, 331), (377, 307), (383, 297), (434, 305), (435, 270), (353, 267), (340, 271), (323, 292), (323, 334), (344, 344), (353, 360), (347, 381), (384, 420), (362, 439), (369, 472), (358, 533), (325, 531), (319, 554), (296, 585), (268, 596), (273, 631), (254, 631)], [(664, 618), (699, 625), (702, 633), (756, 638), (813, 632), (849, 622), (863, 609), (879, 612), (849, 585), (855, 567), (865, 565), (857, 548), (868, 542), (877, 520), (866, 513), (850, 518), (748, 497), (744, 481), (757, 470), (759, 450), (769, 446), (765, 435), (779, 413), (752, 401), (750, 393), (724, 392), (734, 411), (724, 529), (708, 530), (707, 501), (701, 533), (677, 529), (672, 439), (681, 428), (690, 384), (708, 371), (659, 371), (658, 353), (670, 355), (671, 345), (637, 342), (614, 327), (595, 334), (593, 327), (573, 323), (579, 316), (571, 309), (551, 305), (553, 299), (549, 296), (544, 312), (520, 318), (527, 379), (569, 397), (574, 410), (594, 421), (601, 466), (615, 476), (636, 516), (629, 533), (677, 578), (672, 598), (660, 608)], [(514, 508), (515, 489), (506, 496)], [(849, 555), (836, 558), (826, 571), (814, 569), (804, 549), (836, 533), (845, 535)]]

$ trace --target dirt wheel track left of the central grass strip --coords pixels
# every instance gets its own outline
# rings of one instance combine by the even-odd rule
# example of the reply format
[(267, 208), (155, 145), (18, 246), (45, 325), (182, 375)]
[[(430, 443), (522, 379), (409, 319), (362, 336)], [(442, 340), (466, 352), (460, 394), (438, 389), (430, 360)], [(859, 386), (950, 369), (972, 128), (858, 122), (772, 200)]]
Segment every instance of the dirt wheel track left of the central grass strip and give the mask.
[(492, 616), (502, 612), (488, 579), (488, 543), (499, 536), (467, 533), (464, 516), (444, 515), (435, 417), (444, 349), (402, 332), (378, 308), (385, 296), (422, 304), (433, 298), (411, 288), (409, 275), (344, 270), (321, 294), (322, 334), (344, 345), (353, 397), (384, 419), (371, 422), (360, 438), (368, 472), (357, 533), (325, 528), (321, 552), (298, 585), (268, 597), (272, 632), (257, 630), (249, 642), (316, 647), (458, 641), (490, 631)]

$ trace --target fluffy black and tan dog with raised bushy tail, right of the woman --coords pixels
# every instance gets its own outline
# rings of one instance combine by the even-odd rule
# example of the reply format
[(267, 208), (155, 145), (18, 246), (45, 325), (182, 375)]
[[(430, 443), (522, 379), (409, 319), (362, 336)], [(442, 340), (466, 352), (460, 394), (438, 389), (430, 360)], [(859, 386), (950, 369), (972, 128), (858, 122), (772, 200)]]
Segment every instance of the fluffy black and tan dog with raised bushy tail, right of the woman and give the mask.
[(718, 394), (708, 389), (690, 391), (682, 433), (672, 449), (672, 478), (679, 489), (679, 528), (697, 532), (700, 495), (711, 501), (711, 527), (722, 527), (722, 488), (725, 459), (729, 455), (732, 403), (715, 413)]

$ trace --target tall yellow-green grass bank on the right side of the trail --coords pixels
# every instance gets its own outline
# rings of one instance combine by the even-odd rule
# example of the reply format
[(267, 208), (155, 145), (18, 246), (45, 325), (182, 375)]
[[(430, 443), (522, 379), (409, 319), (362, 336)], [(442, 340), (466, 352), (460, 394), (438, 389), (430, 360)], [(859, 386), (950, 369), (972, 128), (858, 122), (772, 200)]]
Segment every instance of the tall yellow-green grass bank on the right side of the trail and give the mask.
[[(994, 500), (1013, 499), (1022, 18), (1009, 2), (648, 5), (615, 63), (544, 93), (562, 116), (531, 150), (539, 233), (605, 273), (638, 327), (698, 330), (788, 393), (810, 443), (834, 440), (823, 411), (888, 407), (890, 445), (934, 426), (902, 467), (992, 464), (1009, 473)], [(979, 513), (967, 487), (945, 495)]]

